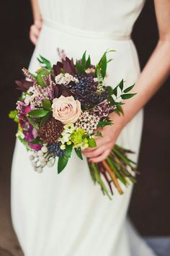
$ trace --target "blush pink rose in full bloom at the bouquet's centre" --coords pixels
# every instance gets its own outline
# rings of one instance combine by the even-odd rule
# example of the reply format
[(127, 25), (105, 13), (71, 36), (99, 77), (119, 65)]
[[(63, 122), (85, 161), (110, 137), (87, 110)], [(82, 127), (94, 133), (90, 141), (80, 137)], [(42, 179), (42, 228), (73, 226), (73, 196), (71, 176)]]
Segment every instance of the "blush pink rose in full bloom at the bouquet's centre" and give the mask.
[(75, 123), (81, 115), (81, 103), (80, 101), (70, 97), (64, 97), (53, 99), (53, 117), (63, 124)]

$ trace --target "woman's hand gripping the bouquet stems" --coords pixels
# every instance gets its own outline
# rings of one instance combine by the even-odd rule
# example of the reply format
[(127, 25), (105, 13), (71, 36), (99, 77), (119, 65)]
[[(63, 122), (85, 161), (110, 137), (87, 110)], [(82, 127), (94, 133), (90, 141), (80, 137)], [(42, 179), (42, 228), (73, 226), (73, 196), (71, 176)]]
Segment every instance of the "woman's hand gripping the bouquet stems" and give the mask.
[[(115, 117), (113, 118), (113, 116)], [(115, 121), (115, 119), (117, 120)], [(87, 148), (82, 151), (86, 158), (89, 158), (90, 162), (98, 163), (104, 161), (115, 145), (117, 137), (123, 127), (122, 116), (117, 116), (117, 114), (114, 113), (112, 114), (112, 120), (114, 120), (115, 124), (99, 130), (103, 137), (95, 137), (97, 147)]]

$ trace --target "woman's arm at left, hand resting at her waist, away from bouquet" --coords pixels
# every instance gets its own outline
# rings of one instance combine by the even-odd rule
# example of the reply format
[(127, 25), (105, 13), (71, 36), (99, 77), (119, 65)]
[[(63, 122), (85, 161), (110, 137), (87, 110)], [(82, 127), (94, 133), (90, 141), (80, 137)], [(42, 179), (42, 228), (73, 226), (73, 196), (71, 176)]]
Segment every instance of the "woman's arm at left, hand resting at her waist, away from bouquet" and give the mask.
[(41, 17), (38, 1), (31, 0), (31, 4), (32, 4), (32, 14), (33, 14), (34, 23), (30, 27), (30, 40), (34, 45), (36, 45), (37, 38), (40, 34), (40, 30), (42, 27), (42, 17)]

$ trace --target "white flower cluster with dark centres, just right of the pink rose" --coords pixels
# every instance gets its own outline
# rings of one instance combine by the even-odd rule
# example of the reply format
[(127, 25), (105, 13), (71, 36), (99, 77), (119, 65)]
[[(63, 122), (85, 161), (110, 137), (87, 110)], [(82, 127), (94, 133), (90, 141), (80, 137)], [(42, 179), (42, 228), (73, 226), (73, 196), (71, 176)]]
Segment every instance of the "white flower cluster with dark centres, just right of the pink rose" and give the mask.
[(91, 115), (89, 112), (85, 111), (81, 114), (79, 119), (76, 121), (75, 127), (82, 128), (89, 135), (97, 129), (97, 124), (99, 123), (99, 116)]

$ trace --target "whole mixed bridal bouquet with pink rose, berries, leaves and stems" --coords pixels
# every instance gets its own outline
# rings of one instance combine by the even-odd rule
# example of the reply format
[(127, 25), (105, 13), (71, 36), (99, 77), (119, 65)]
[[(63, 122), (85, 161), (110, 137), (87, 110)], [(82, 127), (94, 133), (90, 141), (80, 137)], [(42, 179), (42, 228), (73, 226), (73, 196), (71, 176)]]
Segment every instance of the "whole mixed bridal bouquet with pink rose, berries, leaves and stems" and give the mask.
[[(61, 61), (53, 66), (40, 56), (40, 69), (35, 74), (22, 69), (26, 80), (16, 81), (22, 96), (9, 117), (18, 123), (17, 138), (31, 151), (35, 171), (41, 173), (58, 158), (61, 173), (72, 150), (83, 159), (81, 150), (96, 147), (95, 137), (102, 137), (99, 130), (113, 125), (109, 114), (123, 114), (120, 99), (135, 95), (130, 93), (134, 85), (124, 89), (123, 80), (114, 89), (105, 84), (107, 64), (112, 61), (107, 59), (108, 52), (97, 65), (91, 64), (85, 51), (76, 62), (62, 54)], [(120, 182), (125, 186), (135, 182), (136, 166), (127, 153), (133, 152), (115, 145), (105, 161), (88, 162), (94, 184), (98, 183), (110, 199), (112, 185), (122, 194)]]

